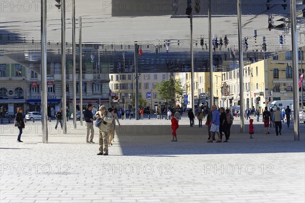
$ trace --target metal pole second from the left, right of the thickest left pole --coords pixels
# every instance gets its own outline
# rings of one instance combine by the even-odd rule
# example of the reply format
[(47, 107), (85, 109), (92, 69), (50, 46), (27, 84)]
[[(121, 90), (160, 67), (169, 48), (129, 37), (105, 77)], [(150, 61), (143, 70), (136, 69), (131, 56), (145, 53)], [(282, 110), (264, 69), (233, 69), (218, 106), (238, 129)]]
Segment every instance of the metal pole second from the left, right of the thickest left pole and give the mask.
[(62, 112), (63, 133), (67, 134), (67, 97), (66, 97), (66, 0), (62, 0)]

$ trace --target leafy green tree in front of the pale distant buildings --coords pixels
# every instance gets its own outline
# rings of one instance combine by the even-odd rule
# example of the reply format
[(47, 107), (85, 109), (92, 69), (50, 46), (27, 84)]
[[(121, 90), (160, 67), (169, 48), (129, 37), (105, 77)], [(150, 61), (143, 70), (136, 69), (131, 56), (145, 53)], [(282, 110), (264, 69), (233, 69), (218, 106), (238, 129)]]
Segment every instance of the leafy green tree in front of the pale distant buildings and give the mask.
[(175, 98), (183, 95), (181, 80), (174, 80), (172, 77), (169, 80), (163, 80), (156, 85), (156, 91), (159, 99), (164, 99), (166, 102), (175, 101)]

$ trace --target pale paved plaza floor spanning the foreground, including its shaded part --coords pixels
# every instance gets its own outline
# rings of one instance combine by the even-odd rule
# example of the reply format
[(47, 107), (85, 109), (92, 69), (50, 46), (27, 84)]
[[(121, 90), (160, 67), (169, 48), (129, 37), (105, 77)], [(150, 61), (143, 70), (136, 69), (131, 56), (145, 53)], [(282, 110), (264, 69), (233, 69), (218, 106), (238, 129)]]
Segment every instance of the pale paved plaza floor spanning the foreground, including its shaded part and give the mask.
[[(234, 117), (235, 118), (235, 117)], [(254, 122), (254, 139), (235, 118), (227, 143), (207, 143), (207, 127), (182, 118), (177, 142), (170, 121), (120, 120), (109, 156), (85, 143), (85, 126), (68, 122), (68, 133), (48, 122), (27, 122), (21, 140), (13, 124), (0, 125), (0, 202), (304, 202), (305, 124), (300, 141), (293, 124), (265, 135)], [(203, 122), (204, 123), (204, 122)], [(246, 120), (246, 124), (248, 121)], [(248, 131), (248, 125), (246, 125)]]

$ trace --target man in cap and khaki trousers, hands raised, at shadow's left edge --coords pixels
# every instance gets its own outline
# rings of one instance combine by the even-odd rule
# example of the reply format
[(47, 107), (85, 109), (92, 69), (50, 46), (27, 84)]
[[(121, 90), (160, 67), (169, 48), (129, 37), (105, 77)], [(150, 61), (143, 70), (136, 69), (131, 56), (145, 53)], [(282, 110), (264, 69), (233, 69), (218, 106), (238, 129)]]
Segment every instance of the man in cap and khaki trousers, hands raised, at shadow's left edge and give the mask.
[(99, 145), (100, 152), (97, 155), (108, 155), (108, 136), (110, 125), (113, 121), (112, 114), (106, 110), (104, 105), (100, 106), (99, 111), (95, 115), (96, 118), (102, 119), (102, 122), (99, 126)]

